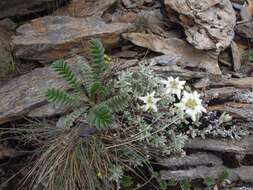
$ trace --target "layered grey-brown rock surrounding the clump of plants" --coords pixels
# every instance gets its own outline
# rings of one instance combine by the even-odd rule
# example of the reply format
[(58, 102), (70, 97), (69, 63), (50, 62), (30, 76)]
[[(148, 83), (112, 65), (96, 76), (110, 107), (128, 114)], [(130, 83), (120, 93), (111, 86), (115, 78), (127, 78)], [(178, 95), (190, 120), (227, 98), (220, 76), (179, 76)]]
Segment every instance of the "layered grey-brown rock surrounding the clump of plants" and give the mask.
[[(157, 73), (191, 82), (209, 111), (231, 114), (252, 134), (252, 14), (250, 0), (1, 0), (0, 124), (15, 128), (24, 118), (64, 113), (43, 96), (49, 86), (69, 90), (50, 64), (65, 58), (78, 73), (76, 62), (97, 37), (122, 69), (151, 59)], [(162, 179), (215, 178), (229, 167), (233, 183), (226, 189), (253, 189), (251, 135), (241, 141), (196, 138), (185, 148), (185, 157), (158, 160)], [(2, 140), (2, 189), (17, 188), (4, 182), (25, 155)]]

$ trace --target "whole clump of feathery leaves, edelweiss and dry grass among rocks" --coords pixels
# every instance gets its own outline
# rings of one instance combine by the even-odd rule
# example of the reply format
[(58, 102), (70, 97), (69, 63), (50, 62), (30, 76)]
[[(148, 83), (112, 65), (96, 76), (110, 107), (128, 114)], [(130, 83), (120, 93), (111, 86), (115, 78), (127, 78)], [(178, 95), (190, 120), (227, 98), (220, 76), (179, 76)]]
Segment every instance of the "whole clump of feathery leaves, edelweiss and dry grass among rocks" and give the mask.
[(148, 61), (118, 71), (102, 43), (92, 39), (90, 61), (79, 67), (77, 77), (64, 60), (52, 65), (72, 90), (52, 88), (46, 97), (69, 111), (60, 127), (38, 132), (53, 135), (41, 139), (25, 180), (32, 190), (114, 190), (129, 176), (145, 184), (150, 179), (141, 169), (152, 173), (151, 159), (184, 154), (189, 137), (214, 134), (213, 123), (201, 124), (208, 115), (200, 94), (186, 81), (157, 75)]

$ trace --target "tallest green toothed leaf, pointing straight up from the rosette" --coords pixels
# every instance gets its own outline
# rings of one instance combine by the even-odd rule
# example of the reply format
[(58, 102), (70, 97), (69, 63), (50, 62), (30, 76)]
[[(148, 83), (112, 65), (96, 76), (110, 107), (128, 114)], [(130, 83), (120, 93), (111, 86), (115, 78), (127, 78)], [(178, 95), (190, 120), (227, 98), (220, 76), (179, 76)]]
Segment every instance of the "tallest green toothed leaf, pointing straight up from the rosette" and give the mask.
[(92, 67), (98, 75), (100, 75), (107, 68), (107, 65), (105, 64), (104, 52), (105, 49), (100, 40), (95, 38), (90, 40), (90, 55), (92, 59)]

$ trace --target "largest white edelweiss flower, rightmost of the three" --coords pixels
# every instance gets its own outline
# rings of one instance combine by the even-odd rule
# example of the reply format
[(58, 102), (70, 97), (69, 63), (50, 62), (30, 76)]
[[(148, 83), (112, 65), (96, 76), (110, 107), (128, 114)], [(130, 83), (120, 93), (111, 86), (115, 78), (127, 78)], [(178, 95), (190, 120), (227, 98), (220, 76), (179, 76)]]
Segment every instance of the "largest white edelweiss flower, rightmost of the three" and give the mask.
[(206, 112), (206, 109), (202, 106), (201, 102), (200, 94), (198, 94), (197, 91), (194, 91), (193, 93), (184, 91), (181, 102), (175, 105), (182, 111), (185, 111), (193, 121), (196, 121), (198, 114)]

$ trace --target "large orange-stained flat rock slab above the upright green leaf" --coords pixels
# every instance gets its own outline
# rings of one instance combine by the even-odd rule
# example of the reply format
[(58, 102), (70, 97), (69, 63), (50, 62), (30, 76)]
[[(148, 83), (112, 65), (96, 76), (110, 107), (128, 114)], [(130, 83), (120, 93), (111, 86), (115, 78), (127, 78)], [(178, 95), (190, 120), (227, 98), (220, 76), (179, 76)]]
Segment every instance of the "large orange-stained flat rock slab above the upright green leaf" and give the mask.
[(50, 62), (87, 53), (91, 38), (101, 38), (105, 46), (116, 45), (120, 34), (131, 26), (127, 23), (106, 24), (94, 17), (46, 16), (17, 29), (12, 40), (13, 51), (17, 58)]

